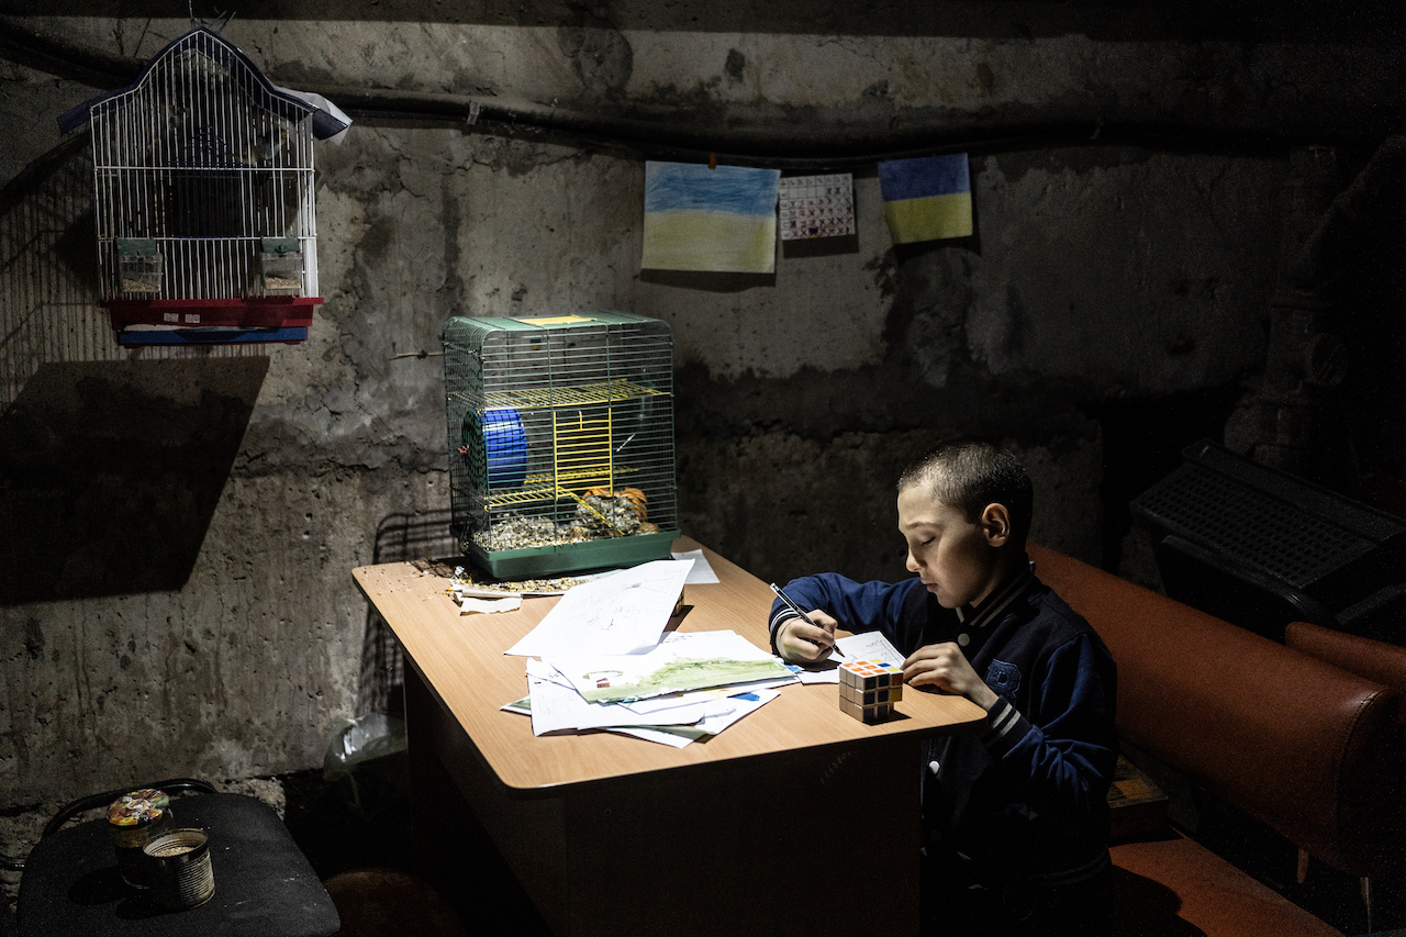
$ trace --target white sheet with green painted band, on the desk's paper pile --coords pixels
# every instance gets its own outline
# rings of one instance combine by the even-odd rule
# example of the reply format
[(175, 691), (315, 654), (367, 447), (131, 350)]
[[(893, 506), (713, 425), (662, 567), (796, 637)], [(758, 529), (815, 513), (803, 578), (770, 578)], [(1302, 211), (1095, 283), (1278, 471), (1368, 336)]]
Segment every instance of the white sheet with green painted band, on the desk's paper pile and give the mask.
[(550, 663), (592, 702), (733, 684), (796, 682), (786, 664), (737, 632), (675, 632), (643, 654), (558, 654)]

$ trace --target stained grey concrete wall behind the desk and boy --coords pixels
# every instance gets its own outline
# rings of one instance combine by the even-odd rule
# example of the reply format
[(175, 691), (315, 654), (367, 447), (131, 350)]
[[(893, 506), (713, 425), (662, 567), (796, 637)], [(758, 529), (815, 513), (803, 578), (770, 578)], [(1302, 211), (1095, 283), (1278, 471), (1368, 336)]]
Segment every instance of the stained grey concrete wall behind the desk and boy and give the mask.
[[(683, 529), (759, 575), (901, 574), (893, 480), (957, 432), (1012, 445), (1036, 536), (1099, 561), (1108, 408), (1209, 393), (1192, 416), (1213, 428), (1263, 363), (1284, 134), (1357, 139), (1402, 100), (1389, 55), (1336, 21), (1303, 45), (1303, 24), (1040, 3), (394, 6), (256, 4), (225, 28), (281, 84), (485, 120), (382, 110), (319, 145), (308, 340), (211, 355), (115, 348), (82, 148), (34, 169), (101, 84), (65, 55), (132, 65), (186, 24), (97, 3), (4, 23), (3, 207), (49, 234), (10, 236), (39, 273), (0, 293), (0, 498), (30, 570), (0, 608), (0, 806), (309, 767), (377, 702), (350, 570), (447, 549), (440, 363), (419, 352), (451, 314), (668, 321)], [(592, 121), (787, 172), (853, 159), (858, 236), (782, 252), (775, 277), (641, 273), (640, 151), (533, 129)], [(994, 139), (1017, 131), (1038, 136)], [(976, 236), (896, 250), (870, 156), (963, 139)]]

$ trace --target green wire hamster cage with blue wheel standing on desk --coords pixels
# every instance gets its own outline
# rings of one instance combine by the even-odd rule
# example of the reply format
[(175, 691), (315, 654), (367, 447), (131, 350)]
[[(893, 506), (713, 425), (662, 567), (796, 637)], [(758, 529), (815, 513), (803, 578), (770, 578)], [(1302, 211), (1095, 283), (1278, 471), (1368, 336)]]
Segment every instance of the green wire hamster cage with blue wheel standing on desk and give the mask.
[(673, 339), (628, 312), (444, 326), (451, 532), (498, 578), (628, 566), (678, 536)]

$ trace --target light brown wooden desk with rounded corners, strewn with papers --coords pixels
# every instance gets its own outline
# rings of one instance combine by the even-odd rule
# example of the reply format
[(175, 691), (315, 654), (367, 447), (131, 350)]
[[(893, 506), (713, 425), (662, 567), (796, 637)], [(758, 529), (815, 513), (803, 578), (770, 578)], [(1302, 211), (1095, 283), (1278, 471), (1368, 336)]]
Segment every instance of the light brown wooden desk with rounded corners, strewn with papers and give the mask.
[[(770, 589), (704, 553), (720, 582), (686, 588), (679, 629), (766, 647)], [(898, 719), (866, 726), (835, 687), (797, 685), (682, 750), (537, 739), (499, 710), (527, 692), (523, 660), (503, 650), (557, 599), (460, 616), (446, 581), (413, 564), (353, 575), (405, 647), (412, 753), (449, 770), (554, 933), (917, 933), (917, 741), (974, 726), (980, 708), (910, 692)]]

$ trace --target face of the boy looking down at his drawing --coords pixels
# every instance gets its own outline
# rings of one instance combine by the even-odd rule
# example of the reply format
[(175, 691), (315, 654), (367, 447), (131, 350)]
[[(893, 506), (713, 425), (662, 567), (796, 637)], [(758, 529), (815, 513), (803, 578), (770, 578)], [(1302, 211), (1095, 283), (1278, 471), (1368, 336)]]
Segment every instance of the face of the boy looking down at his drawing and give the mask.
[(918, 574), (942, 608), (980, 602), (1001, 581), (1001, 552), (984, 519), (967, 521), (924, 484), (898, 492), (898, 532), (908, 542), (908, 571)]

